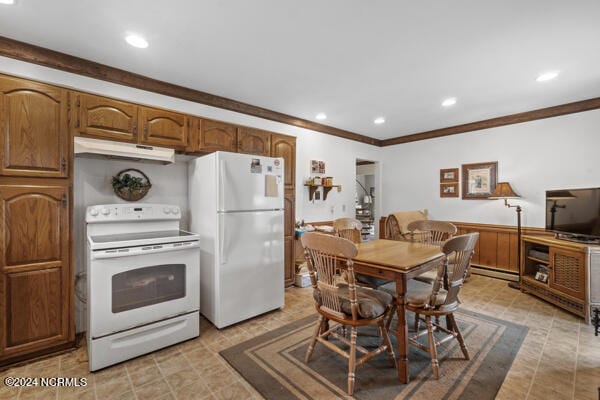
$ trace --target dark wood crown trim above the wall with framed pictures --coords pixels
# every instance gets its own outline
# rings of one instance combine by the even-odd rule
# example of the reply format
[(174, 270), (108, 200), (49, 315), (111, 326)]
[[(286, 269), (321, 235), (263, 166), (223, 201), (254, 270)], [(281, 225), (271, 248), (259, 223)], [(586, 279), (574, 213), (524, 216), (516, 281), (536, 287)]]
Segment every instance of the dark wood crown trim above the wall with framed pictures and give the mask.
[(558, 117), (559, 115), (574, 114), (582, 111), (596, 110), (598, 108), (600, 108), (600, 97), (596, 97), (595, 99), (577, 101), (574, 103), (562, 104), (559, 106), (541, 108), (539, 110), (507, 115), (504, 117), (471, 122), (463, 125), (451, 126), (448, 128), (435, 129), (432, 131), (385, 139), (381, 141), (381, 146), (393, 146), (395, 144), (416, 142), (418, 140), (426, 140), (442, 136), (456, 135), (458, 133), (478, 131), (481, 129), (495, 128), (498, 126), (520, 124), (522, 122), (534, 121), (536, 119)]

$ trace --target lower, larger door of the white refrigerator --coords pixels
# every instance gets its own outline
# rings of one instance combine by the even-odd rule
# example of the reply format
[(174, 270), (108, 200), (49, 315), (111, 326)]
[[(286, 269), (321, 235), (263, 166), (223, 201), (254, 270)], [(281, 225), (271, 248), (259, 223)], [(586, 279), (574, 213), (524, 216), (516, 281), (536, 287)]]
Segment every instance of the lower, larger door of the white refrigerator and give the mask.
[(222, 213), (219, 236), (215, 326), (283, 307), (283, 211)]

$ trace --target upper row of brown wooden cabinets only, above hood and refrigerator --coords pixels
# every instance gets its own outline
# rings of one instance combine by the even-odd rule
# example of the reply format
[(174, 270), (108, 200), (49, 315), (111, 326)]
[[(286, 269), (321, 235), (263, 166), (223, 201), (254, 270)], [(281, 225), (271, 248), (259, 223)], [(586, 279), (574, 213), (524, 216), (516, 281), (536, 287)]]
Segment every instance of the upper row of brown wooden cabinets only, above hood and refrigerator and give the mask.
[(74, 136), (163, 146), (187, 154), (231, 151), (283, 157), (294, 187), (292, 136), (0, 75), (3, 176), (69, 176)]

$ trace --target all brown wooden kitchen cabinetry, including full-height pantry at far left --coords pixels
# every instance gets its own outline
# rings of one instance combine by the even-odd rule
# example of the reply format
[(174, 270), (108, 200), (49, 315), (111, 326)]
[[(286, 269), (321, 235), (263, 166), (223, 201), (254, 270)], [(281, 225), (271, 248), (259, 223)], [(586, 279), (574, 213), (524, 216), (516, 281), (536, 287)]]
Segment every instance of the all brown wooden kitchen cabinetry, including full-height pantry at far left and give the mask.
[(295, 137), (0, 74), (0, 366), (74, 345), (73, 136), (283, 157), (293, 282)]

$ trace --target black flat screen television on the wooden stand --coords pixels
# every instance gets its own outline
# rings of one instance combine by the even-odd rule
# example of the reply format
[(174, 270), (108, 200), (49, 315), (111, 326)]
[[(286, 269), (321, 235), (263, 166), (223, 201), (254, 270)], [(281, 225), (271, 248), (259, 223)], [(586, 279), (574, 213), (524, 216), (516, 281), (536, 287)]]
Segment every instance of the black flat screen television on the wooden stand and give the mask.
[(600, 188), (547, 190), (546, 230), (563, 239), (600, 239)]

